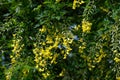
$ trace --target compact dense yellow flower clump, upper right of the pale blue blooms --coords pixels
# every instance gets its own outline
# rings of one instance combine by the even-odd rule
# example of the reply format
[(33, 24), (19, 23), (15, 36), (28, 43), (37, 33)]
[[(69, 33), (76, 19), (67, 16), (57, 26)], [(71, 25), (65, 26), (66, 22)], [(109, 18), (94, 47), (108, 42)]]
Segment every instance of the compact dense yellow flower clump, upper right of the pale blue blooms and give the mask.
[(82, 31), (89, 33), (91, 30), (92, 23), (89, 21), (83, 20), (82, 21)]

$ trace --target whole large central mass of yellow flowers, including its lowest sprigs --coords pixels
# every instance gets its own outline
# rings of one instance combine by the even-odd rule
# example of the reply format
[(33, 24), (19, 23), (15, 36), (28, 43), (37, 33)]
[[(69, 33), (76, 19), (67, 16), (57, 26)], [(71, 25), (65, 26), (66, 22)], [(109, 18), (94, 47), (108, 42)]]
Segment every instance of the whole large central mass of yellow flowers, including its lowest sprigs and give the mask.
[[(55, 27), (53, 27), (55, 28)], [(55, 29), (54, 29), (55, 30)], [(72, 32), (62, 32), (62, 33), (54, 33), (51, 29), (46, 29), (44, 26), (39, 30), (41, 32), (47, 31), (49, 34), (45, 35), (45, 40), (40, 43), (34, 43), (33, 53), (35, 55), (34, 61), (36, 62), (36, 68), (42, 72), (42, 76), (46, 79), (50, 72), (47, 70), (47, 64), (57, 64), (57, 58), (62, 55), (63, 59), (67, 58), (67, 55), (70, 53), (72, 48), (70, 45), (73, 42), (73, 34)], [(62, 47), (59, 46), (63, 46)], [(59, 48), (60, 52), (56, 52), (56, 49)], [(64, 72), (64, 70), (63, 70)], [(60, 76), (63, 75), (61, 72)]]

